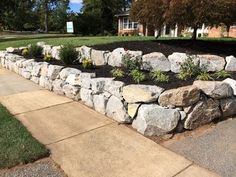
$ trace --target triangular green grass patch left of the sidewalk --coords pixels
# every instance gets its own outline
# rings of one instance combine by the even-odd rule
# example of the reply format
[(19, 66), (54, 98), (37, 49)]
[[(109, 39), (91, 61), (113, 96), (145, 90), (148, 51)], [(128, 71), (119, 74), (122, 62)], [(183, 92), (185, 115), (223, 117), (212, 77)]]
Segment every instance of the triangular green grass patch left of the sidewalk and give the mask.
[(49, 151), (0, 104), (0, 169), (33, 162)]

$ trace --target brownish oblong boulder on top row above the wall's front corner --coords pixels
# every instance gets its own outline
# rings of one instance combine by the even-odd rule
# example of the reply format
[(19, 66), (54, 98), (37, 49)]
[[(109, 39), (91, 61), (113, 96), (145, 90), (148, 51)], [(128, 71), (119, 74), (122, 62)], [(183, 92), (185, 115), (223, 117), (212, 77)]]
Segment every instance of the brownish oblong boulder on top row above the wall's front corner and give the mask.
[(200, 99), (200, 91), (195, 86), (180, 87), (163, 92), (159, 97), (161, 106), (183, 106), (195, 104)]

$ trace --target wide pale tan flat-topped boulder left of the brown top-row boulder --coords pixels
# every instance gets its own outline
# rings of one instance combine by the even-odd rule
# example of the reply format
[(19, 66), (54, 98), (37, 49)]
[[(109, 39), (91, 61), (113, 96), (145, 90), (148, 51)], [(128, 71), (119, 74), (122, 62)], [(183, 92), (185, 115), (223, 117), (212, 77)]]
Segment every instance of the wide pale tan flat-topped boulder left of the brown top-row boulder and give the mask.
[(123, 87), (122, 94), (127, 103), (152, 103), (163, 91), (163, 88), (152, 85), (128, 85)]

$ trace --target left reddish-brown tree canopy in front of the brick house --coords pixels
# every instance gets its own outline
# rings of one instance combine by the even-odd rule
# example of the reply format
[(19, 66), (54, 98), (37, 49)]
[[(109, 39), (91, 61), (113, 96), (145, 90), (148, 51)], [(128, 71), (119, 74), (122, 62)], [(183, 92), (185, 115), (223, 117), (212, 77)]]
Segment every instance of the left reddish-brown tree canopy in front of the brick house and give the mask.
[(165, 22), (165, 12), (168, 8), (167, 0), (138, 0), (133, 3), (130, 18), (144, 26), (153, 26), (159, 33)]

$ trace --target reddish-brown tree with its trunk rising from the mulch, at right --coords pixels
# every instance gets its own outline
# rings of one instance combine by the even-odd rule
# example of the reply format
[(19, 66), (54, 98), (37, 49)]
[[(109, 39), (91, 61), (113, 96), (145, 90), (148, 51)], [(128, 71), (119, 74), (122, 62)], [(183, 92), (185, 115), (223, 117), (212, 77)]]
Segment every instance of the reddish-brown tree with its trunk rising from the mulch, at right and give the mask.
[[(209, 0), (171, 0), (166, 13), (166, 21), (171, 25), (193, 28), (192, 39), (197, 38), (197, 29), (202, 24), (217, 23), (216, 1)], [(219, 11), (219, 10), (218, 10)]]

